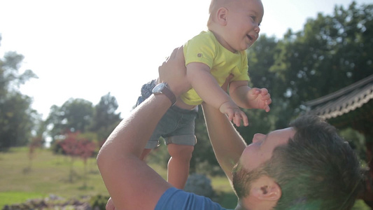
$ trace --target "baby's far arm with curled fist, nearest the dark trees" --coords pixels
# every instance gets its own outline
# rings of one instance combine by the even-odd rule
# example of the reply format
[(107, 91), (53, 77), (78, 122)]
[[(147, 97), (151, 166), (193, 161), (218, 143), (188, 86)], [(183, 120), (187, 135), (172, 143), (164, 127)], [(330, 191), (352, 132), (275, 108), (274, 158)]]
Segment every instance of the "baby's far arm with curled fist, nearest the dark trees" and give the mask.
[(248, 87), (247, 81), (232, 81), (230, 97), (244, 109), (264, 109), (269, 112), (272, 103), (271, 95), (266, 88)]

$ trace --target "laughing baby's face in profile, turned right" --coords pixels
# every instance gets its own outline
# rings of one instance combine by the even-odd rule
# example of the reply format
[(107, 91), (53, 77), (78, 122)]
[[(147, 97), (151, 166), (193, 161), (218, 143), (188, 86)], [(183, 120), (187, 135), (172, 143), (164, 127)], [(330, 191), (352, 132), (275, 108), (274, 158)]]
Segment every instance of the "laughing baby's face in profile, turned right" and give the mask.
[(246, 50), (258, 39), (264, 9), (260, 0), (233, 0), (228, 9), (225, 41), (232, 52)]

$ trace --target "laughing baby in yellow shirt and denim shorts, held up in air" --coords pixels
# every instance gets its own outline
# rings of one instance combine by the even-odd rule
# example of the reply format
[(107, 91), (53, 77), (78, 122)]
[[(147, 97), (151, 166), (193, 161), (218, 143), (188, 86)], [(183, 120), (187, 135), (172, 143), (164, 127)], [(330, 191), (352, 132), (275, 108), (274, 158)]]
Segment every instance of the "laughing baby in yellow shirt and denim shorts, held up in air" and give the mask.
[[(212, 0), (207, 31), (202, 31), (183, 45), (187, 78), (192, 89), (177, 99), (166, 83), (152, 80), (141, 88), (139, 105), (150, 94), (166, 94), (174, 106), (155, 128), (141, 155), (144, 159), (163, 137), (171, 158), (168, 181), (184, 188), (188, 179), (192, 151), (197, 143), (195, 118), (197, 106), (206, 102), (225, 113), (237, 126), (248, 125), (243, 109), (269, 111), (267, 89), (248, 87), (246, 49), (257, 40), (264, 9), (260, 0)], [(229, 94), (221, 86), (230, 79)]]

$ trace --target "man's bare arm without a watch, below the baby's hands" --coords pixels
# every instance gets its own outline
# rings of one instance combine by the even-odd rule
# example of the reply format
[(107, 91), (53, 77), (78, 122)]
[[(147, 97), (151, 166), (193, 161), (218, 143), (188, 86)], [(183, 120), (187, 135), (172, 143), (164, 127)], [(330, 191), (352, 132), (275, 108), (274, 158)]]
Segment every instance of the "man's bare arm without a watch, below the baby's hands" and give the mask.
[(246, 148), (246, 143), (234, 129), (227, 116), (206, 103), (202, 104), (202, 108), (216, 159), (225, 175), (232, 181), (232, 169), (239, 161)]

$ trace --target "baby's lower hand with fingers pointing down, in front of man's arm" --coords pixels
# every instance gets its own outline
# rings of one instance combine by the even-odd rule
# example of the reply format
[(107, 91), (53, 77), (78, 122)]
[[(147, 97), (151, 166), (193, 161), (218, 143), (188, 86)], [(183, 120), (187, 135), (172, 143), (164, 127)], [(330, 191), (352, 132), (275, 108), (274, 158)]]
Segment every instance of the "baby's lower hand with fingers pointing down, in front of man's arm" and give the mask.
[(230, 121), (232, 121), (237, 127), (241, 125), (241, 120), (244, 123), (244, 126), (248, 126), (248, 118), (246, 114), (239, 109), (239, 107), (234, 104), (234, 102), (225, 102), (219, 108), (221, 113), (225, 113)]

